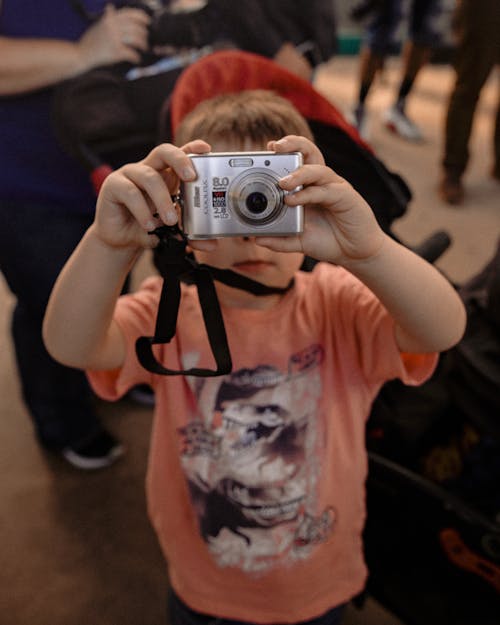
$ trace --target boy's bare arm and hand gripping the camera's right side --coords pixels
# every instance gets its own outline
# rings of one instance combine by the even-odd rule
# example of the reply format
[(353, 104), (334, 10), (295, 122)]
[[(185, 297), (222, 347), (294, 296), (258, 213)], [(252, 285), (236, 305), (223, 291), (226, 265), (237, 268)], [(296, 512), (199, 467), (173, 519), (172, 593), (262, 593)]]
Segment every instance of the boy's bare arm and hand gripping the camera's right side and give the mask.
[(303, 185), (285, 201), (306, 206), (305, 227), (296, 237), (257, 242), (280, 251), (302, 251), (357, 276), (394, 318), (401, 351), (442, 351), (457, 343), (465, 329), (465, 309), (449, 281), (382, 231), (365, 200), (325, 166), (310, 141), (290, 136), (271, 142), (269, 149), (304, 154), (306, 164), (280, 185), (290, 191)]

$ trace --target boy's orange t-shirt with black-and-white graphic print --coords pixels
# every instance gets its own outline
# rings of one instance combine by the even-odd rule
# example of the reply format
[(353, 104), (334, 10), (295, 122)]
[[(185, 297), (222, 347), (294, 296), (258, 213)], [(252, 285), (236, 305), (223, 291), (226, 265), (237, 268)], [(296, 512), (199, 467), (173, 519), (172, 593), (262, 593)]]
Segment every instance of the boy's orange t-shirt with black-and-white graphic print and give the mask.
[[(254, 623), (311, 619), (364, 586), (365, 422), (380, 386), (418, 384), (435, 354), (400, 354), (394, 324), (347, 271), (298, 273), (271, 310), (223, 309), (233, 372), (145, 371), (135, 341), (152, 336), (161, 280), (121, 297), (127, 354), (92, 371), (116, 399), (156, 393), (147, 475), (151, 521), (176, 593), (192, 609)], [(194, 287), (177, 334), (156, 356), (170, 369), (213, 368)]]

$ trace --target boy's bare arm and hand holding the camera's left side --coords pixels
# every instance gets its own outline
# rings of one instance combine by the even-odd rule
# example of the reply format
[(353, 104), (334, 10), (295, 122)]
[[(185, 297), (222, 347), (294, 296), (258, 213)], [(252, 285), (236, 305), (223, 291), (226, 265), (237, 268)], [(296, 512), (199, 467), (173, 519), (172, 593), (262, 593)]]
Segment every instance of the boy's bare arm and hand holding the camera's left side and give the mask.
[[(123, 282), (140, 251), (158, 243), (148, 232), (177, 223), (169, 189), (195, 177), (187, 153), (208, 150), (202, 141), (182, 150), (164, 144), (108, 176), (94, 222), (59, 275), (45, 314), (43, 337), (56, 360), (80, 369), (123, 364), (124, 338), (113, 321)], [(194, 245), (210, 249), (212, 243)]]

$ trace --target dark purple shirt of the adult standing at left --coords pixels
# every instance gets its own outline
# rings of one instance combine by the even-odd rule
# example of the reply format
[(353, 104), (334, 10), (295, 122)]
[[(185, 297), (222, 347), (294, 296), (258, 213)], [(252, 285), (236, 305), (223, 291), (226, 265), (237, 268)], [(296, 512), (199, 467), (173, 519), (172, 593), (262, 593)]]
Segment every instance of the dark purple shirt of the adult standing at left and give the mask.
[[(83, 0), (89, 14), (105, 0)], [(90, 22), (71, 0), (3, 0), (0, 35), (76, 41)], [(0, 97), (0, 202), (15, 201), (93, 212), (95, 194), (83, 165), (59, 147), (51, 121), (50, 88)]]

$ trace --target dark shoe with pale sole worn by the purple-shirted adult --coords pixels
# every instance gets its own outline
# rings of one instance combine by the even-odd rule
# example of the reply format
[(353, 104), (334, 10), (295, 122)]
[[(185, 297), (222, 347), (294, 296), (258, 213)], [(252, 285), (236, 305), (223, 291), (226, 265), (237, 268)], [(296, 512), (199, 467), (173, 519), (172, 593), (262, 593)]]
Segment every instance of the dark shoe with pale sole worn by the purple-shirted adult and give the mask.
[(72, 466), (85, 471), (103, 469), (123, 456), (125, 450), (111, 434), (100, 429), (78, 445), (65, 447), (62, 456)]

